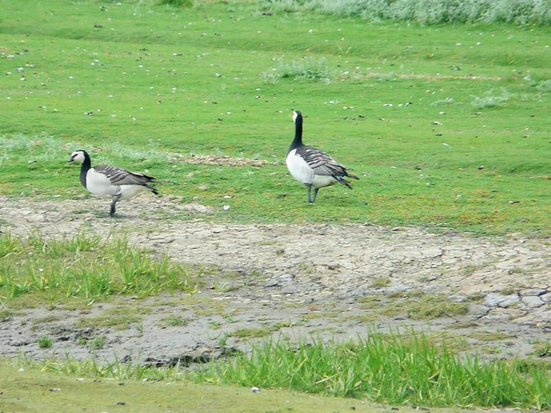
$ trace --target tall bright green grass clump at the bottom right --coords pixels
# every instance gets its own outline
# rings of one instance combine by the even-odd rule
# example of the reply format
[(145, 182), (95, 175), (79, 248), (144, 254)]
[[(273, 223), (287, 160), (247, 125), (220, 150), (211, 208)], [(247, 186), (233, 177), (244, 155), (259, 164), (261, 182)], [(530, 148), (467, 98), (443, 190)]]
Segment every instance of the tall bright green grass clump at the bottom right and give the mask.
[(551, 407), (551, 373), (520, 361), (454, 355), (426, 338), (369, 335), (358, 343), (269, 341), (191, 374), (198, 382), (367, 398), (389, 404)]

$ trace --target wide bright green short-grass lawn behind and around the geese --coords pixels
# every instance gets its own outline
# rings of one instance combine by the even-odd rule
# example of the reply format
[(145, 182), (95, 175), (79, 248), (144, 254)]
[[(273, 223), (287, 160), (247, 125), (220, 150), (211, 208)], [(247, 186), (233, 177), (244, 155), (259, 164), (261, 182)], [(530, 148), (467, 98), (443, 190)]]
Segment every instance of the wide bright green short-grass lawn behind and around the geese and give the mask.
[[(87, 149), (214, 207), (213, 220), (550, 233), (549, 28), (368, 23), (251, 1), (1, 7), (0, 194), (85, 193), (66, 160)], [(284, 165), (293, 109), (304, 142), (360, 176), (353, 190), (306, 204)], [(266, 162), (185, 162), (209, 154)]]

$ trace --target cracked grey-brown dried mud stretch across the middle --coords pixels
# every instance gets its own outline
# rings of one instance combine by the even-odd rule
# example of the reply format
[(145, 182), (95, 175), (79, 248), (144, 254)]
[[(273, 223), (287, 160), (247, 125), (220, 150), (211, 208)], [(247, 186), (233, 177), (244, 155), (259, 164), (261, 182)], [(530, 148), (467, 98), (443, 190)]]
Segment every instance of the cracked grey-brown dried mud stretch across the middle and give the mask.
[[(492, 357), (550, 355), (541, 350), (551, 333), (549, 240), (368, 224), (216, 224), (202, 205), (145, 195), (121, 202), (115, 218), (107, 209), (93, 198), (0, 197), (0, 224), (21, 235), (127, 233), (138, 246), (210, 268), (200, 292), (28, 309), (1, 320), (0, 354), (163, 366), (247, 351), (270, 336), (344, 340), (415, 329), (445, 332), (460, 350)], [(112, 308), (138, 321), (119, 330), (86, 322)], [(52, 348), (39, 348), (43, 336)]]

